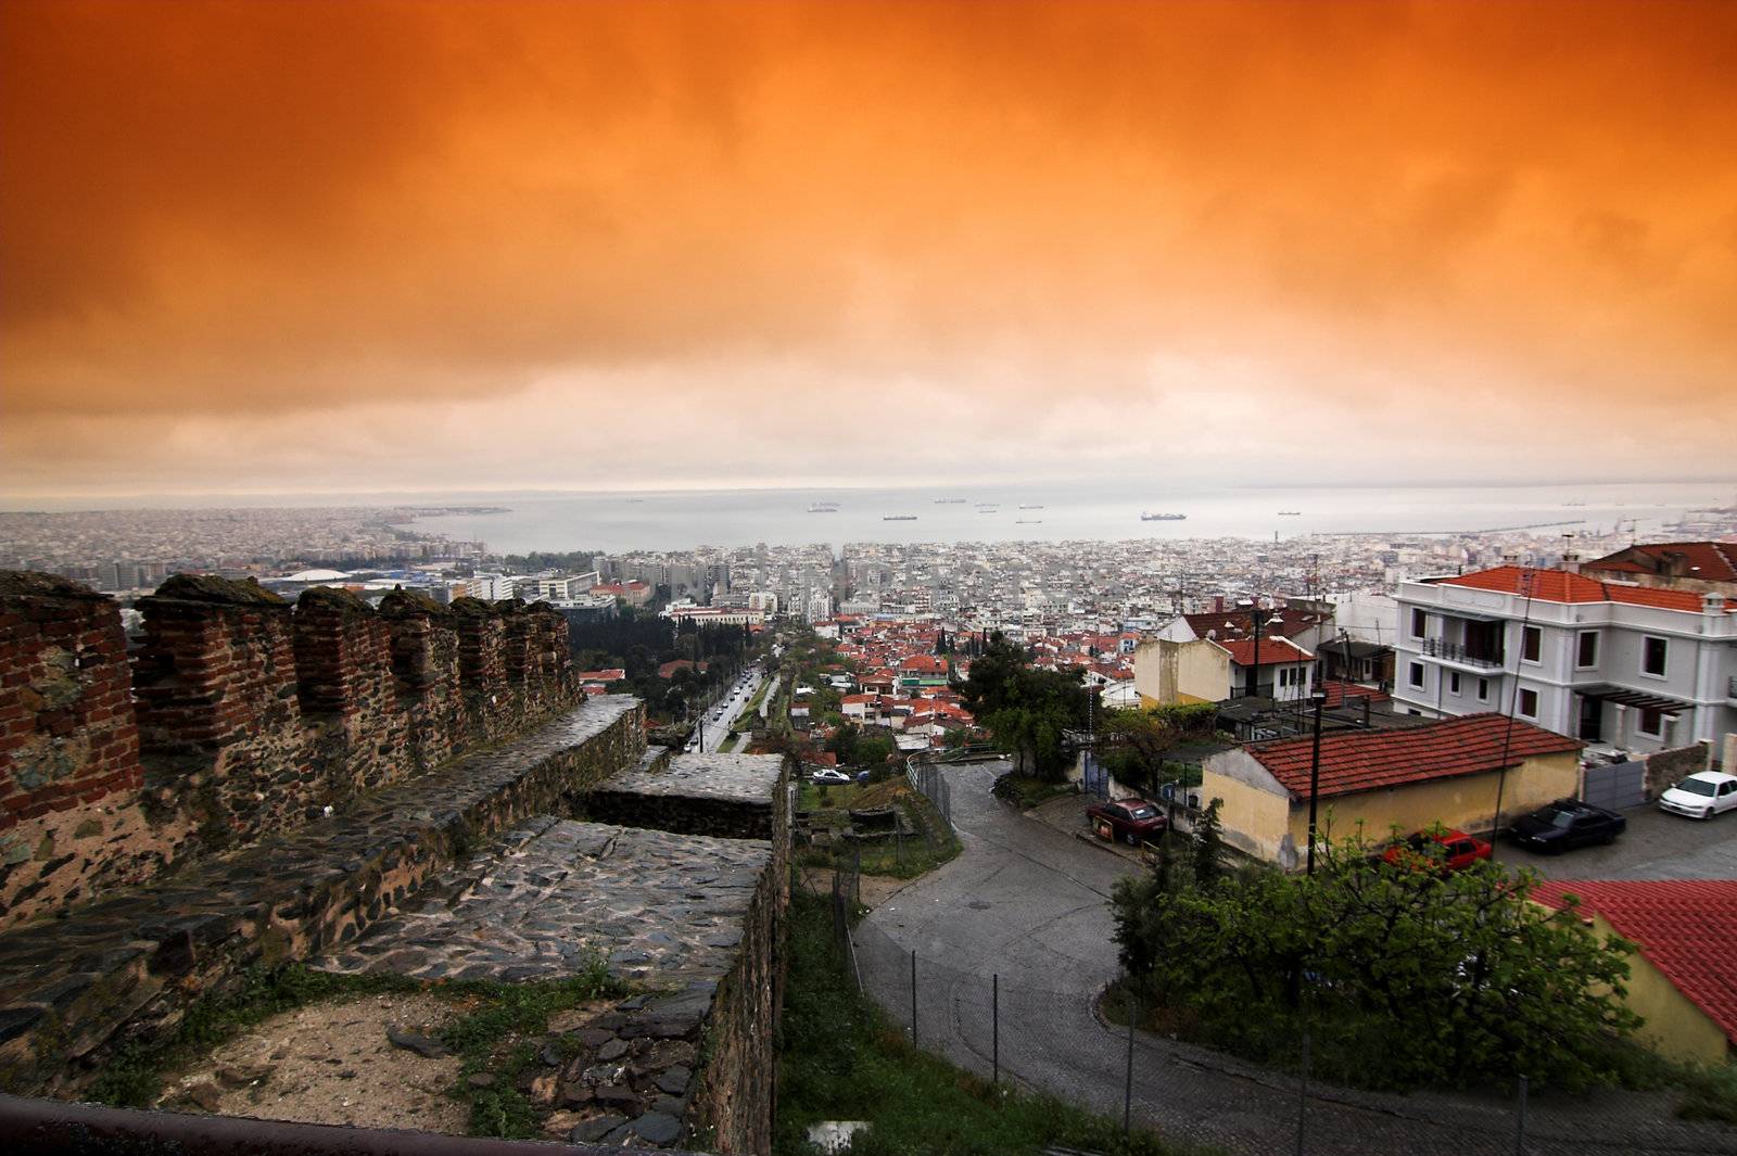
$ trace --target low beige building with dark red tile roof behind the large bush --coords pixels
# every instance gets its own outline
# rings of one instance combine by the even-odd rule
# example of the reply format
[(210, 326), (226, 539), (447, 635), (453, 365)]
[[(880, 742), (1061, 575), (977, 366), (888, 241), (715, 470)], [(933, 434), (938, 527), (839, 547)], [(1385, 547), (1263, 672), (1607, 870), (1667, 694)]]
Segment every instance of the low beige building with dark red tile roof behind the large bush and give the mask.
[[(1513, 726), (1513, 732), (1508, 727)], [(1506, 759), (1504, 759), (1506, 743)], [(1442, 719), (1397, 731), (1341, 731), (1320, 739), (1320, 824), (1369, 840), (1431, 823), (1489, 831), (1497, 781), (1516, 816), (1579, 788), (1581, 743), (1503, 715)], [(1308, 845), (1311, 739), (1251, 743), (1211, 755), (1200, 797), (1221, 798), (1225, 842), (1285, 870)], [(1501, 769), (1506, 765), (1508, 774)]]

